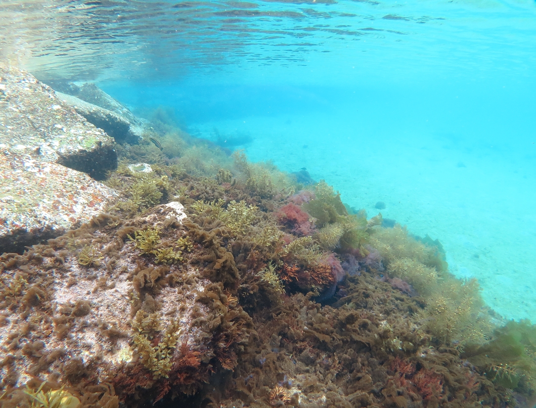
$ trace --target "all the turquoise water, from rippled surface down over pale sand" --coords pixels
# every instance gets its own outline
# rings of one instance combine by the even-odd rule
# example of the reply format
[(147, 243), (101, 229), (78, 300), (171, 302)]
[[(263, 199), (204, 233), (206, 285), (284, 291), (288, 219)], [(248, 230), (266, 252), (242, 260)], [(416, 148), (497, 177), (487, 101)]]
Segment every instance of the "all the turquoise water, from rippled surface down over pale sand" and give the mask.
[(0, 54), (439, 239), (536, 320), (534, 1), (0, 1)]

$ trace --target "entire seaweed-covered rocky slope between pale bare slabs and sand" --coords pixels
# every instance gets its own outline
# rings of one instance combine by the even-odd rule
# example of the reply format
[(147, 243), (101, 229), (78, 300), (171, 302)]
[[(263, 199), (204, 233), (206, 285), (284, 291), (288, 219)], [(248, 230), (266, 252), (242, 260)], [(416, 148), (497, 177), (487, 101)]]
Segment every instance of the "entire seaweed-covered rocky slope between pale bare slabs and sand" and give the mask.
[(534, 327), (438, 241), (165, 123), (117, 151), (107, 214), (0, 258), (2, 406), (530, 406)]

